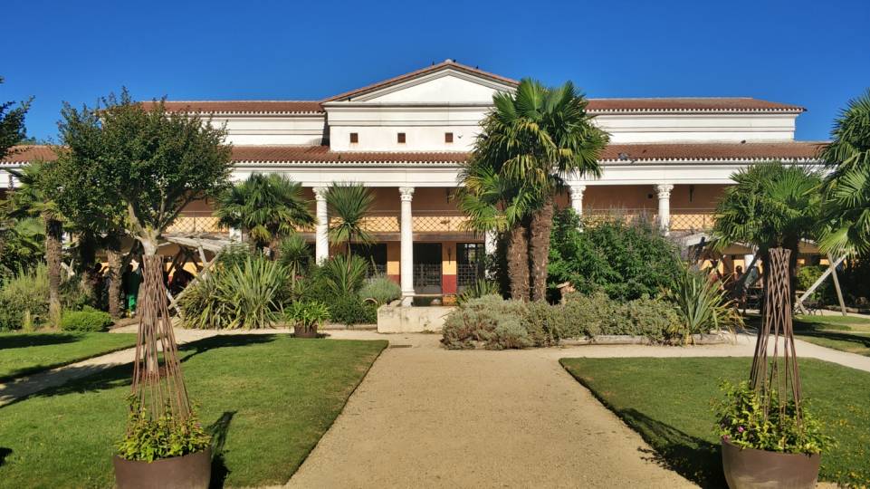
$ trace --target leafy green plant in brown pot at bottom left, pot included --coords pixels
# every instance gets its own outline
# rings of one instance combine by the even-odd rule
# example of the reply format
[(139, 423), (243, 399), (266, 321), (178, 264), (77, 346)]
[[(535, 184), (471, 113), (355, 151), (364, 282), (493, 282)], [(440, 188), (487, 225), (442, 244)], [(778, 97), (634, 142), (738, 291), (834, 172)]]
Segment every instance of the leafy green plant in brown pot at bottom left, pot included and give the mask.
[(211, 437), (196, 415), (148, 417), (141, 401), (130, 396), (127, 435), (113, 459), (120, 489), (146, 487), (205, 488), (211, 482)]

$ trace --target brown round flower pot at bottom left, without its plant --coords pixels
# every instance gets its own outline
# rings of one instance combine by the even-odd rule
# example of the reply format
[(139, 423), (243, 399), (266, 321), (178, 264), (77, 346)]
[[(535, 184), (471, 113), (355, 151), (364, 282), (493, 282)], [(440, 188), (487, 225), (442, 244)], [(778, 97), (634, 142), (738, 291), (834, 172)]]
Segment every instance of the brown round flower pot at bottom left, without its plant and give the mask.
[(115, 455), (119, 489), (206, 489), (212, 477), (212, 450), (143, 462)]

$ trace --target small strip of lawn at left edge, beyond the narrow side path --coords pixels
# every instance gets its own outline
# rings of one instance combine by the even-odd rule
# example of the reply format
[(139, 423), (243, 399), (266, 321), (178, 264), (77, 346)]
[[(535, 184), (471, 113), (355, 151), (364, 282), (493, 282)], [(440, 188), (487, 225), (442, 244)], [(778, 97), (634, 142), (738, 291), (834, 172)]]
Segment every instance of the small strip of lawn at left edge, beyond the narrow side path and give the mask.
[(0, 333), (0, 381), (123, 350), (135, 344), (135, 334)]

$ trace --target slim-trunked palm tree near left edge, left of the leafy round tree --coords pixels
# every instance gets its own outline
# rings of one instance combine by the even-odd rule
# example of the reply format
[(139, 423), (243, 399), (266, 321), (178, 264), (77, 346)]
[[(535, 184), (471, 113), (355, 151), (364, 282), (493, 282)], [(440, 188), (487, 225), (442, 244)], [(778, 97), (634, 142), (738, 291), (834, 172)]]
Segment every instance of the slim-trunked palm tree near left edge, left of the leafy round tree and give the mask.
[(45, 226), (45, 264), (48, 271), (48, 317), (54, 326), (61, 324), (61, 261), (63, 217), (45, 192), (51, 164), (34, 161), (20, 170), (8, 170), (21, 187), (10, 197), (13, 217), (40, 217)]

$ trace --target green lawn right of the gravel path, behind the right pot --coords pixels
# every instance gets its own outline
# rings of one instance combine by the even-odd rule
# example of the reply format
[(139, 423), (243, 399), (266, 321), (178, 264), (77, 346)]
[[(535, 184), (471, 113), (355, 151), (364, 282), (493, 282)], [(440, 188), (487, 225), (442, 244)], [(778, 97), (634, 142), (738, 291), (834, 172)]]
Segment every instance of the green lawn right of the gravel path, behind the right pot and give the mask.
[[(562, 365), (688, 479), (724, 487), (712, 404), (721, 379), (749, 376), (750, 358), (563, 359)], [(822, 455), (820, 479), (870, 484), (870, 373), (802, 359), (804, 395), (837, 447)]]

